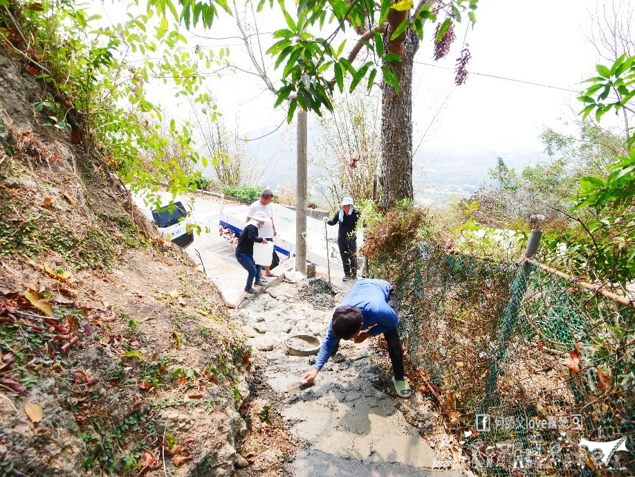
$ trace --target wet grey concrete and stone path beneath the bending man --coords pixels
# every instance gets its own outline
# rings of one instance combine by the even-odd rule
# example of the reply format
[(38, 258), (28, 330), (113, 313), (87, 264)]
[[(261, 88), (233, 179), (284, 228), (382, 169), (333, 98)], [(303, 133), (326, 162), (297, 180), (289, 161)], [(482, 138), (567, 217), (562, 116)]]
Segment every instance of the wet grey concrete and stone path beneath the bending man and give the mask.
[(297, 285), (282, 282), (249, 297), (234, 312), (243, 321), (252, 348), (266, 356), (265, 376), (277, 393), (282, 417), (306, 442), (306, 449), (290, 464), (291, 474), (466, 475), (458, 464), (447, 460), (441, 464), (438, 451), (406, 422), (399, 410), (403, 402), (394, 394), (387, 372), (375, 364), (381, 358), (371, 351), (370, 340), (361, 345), (342, 341), (315, 384), (300, 386), (300, 377), (315, 356), (292, 356), (285, 341), (294, 334), (324, 339), (333, 308), (351, 287), (350, 282), (338, 282), (335, 296), (323, 293), (323, 287), (311, 289), (308, 280)]

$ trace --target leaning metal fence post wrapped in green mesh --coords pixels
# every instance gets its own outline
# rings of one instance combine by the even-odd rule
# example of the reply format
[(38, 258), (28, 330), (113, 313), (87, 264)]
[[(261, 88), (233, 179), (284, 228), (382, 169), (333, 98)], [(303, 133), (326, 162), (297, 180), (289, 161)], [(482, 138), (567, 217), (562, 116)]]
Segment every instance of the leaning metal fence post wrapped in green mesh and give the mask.
[(509, 336), (516, 325), (518, 310), (520, 308), (520, 304), (522, 303), (525, 291), (527, 290), (527, 278), (533, 269), (533, 265), (528, 262), (528, 259), (533, 258), (535, 255), (538, 245), (540, 244), (541, 237), (541, 230), (533, 229), (531, 231), (531, 235), (529, 235), (529, 240), (527, 242), (527, 248), (520, 259), (521, 265), (516, 272), (514, 281), (512, 282), (512, 296), (505, 307), (505, 311), (503, 312), (503, 317), (499, 324), (500, 331), (498, 334), (498, 342), (495, 350), (493, 350), (493, 353), (490, 356), (490, 372), (485, 385), (485, 397), (480, 406), (481, 414), (488, 413), (491, 399), (496, 390), (500, 367), (502, 366), (502, 362), (505, 359), (505, 354), (507, 352)]

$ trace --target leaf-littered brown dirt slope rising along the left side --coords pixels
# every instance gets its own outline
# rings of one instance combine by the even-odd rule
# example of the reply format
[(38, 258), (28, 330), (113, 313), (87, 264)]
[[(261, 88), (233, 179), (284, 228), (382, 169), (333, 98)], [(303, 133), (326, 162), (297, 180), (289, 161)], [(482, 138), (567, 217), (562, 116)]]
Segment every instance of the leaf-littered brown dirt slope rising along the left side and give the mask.
[(0, 48), (0, 476), (232, 474), (248, 348), (42, 100)]

